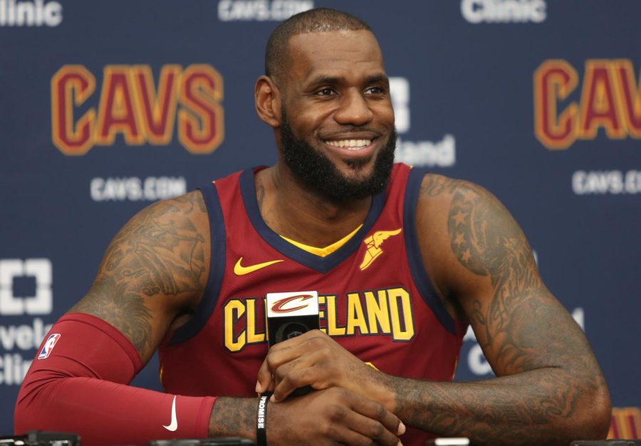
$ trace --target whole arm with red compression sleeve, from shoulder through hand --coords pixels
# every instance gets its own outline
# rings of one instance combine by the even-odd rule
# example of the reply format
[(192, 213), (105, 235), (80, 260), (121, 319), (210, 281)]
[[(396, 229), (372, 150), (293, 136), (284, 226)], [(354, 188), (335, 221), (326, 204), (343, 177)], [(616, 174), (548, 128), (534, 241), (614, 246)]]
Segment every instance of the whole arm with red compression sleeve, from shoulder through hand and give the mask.
[[(208, 435), (254, 440), (256, 398), (217, 398), (214, 405), (207, 395), (128, 386), (167, 332), (197, 307), (209, 243), (199, 192), (155, 203), (132, 218), (110, 243), (89, 292), (53, 326), (60, 336), (51, 356), (33, 362), (16, 403), (16, 433), (77, 432), (91, 445)], [(396, 445), (405, 429), (379, 403), (343, 389), (268, 408), (267, 420), (273, 445), (309, 438), (318, 445)]]

